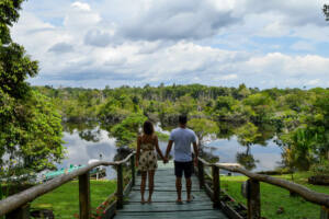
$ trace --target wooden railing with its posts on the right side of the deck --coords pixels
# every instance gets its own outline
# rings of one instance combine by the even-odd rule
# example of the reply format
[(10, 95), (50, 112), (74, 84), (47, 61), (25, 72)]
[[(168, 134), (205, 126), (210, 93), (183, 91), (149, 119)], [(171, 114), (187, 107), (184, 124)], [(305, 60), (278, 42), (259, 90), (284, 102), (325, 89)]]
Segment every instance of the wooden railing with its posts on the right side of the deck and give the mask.
[[(205, 166), (209, 166), (212, 169), (212, 173), (209, 174), (212, 186), (205, 183), (205, 175), (207, 175)], [(329, 195), (327, 194), (310, 191), (309, 188), (303, 185), (286, 180), (252, 173), (236, 163), (208, 163), (205, 160), (198, 158), (198, 163), (195, 172), (197, 173), (200, 187), (205, 188), (205, 191), (211, 196), (214, 203), (214, 207), (223, 207), (223, 201), (220, 200), (219, 169), (229, 172), (240, 173), (249, 177), (249, 180), (246, 183), (248, 219), (261, 218), (260, 182), (280, 186), (299, 195), (307, 201), (321, 206), (320, 219), (329, 219)]]

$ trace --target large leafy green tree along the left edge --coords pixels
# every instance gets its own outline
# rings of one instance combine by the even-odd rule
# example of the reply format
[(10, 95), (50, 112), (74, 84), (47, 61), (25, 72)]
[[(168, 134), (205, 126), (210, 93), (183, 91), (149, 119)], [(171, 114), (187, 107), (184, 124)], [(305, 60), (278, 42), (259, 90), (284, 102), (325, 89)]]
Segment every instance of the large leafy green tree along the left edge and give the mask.
[(37, 61), (10, 36), (22, 2), (0, 2), (0, 177), (55, 168), (65, 152), (59, 114), (25, 81), (37, 74)]

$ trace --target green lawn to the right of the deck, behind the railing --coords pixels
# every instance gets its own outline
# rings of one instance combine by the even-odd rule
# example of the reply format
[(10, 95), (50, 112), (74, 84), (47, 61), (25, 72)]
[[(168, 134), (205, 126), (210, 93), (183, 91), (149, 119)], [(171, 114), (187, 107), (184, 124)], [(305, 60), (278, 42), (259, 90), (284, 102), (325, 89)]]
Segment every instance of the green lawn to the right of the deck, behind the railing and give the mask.
[[(307, 183), (310, 173), (295, 173), (294, 182), (305, 185), (306, 187), (329, 194), (329, 186), (317, 186)], [(291, 181), (291, 174), (280, 175), (281, 177)], [(228, 194), (237, 201), (247, 204), (247, 199), (241, 195), (241, 183), (247, 181), (246, 176), (220, 176), (222, 188), (227, 191)], [(268, 219), (316, 219), (320, 218), (320, 207), (318, 205), (308, 203), (302, 197), (291, 197), (290, 192), (273, 186), (266, 183), (261, 183), (261, 208), (262, 217)], [(277, 209), (283, 207), (283, 214), (276, 214)]]

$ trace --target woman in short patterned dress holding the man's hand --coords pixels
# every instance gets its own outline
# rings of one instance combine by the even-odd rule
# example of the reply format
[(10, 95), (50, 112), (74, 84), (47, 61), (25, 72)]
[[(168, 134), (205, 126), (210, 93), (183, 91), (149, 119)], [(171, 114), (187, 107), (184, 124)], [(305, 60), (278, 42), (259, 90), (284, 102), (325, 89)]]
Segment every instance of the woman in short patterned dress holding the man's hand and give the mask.
[(140, 195), (141, 195), (141, 204), (145, 204), (144, 192), (146, 185), (146, 178), (148, 174), (148, 199), (147, 203), (151, 203), (152, 193), (154, 193), (154, 177), (155, 172), (158, 168), (157, 163), (157, 154), (155, 149), (161, 157), (164, 162), (164, 157), (159, 148), (158, 137), (155, 135), (155, 129), (152, 124), (147, 120), (143, 125), (143, 135), (137, 138), (137, 152), (136, 152), (136, 166), (141, 173), (141, 183), (140, 183)]

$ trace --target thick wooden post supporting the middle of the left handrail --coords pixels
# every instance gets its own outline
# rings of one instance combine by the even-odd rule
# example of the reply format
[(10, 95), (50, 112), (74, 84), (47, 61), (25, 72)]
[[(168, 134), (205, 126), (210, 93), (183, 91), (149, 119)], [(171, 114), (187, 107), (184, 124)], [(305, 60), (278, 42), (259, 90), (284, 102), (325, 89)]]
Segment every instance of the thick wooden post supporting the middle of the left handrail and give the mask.
[(90, 181), (89, 172), (79, 175), (80, 219), (90, 219)]

